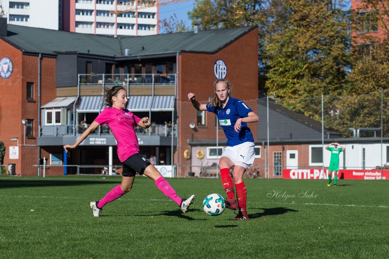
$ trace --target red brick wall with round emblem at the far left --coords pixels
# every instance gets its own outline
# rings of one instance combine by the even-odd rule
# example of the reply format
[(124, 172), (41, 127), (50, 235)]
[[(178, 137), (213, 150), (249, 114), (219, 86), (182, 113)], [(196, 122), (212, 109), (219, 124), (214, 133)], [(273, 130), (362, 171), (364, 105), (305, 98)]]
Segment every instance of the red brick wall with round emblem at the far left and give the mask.
[[(13, 63), (13, 72), (8, 79), (0, 78), (0, 140), (5, 145), (4, 164), (15, 163), (16, 174), (37, 176), (37, 136), (38, 136), (38, 56), (23, 55), (22, 52), (0, 40), (0, 58), (9, 57)], [(42, 59), (41, 105), (56, 96), (55, 58)], [(34, 83), (34, 101), (26, 100), (27, 82)], [(22, 119), (33, 119), (34, 137), (24, 137)], [(9, 159), (9, 146), (16, 146), (11, 137), (18, 137), (19, 159)], [(33, 145), (33, 146), (24, 146)], [(43, 157), (43, 156), (42, 156)], [(23, 161), (23, 164), (21, 163)]]

